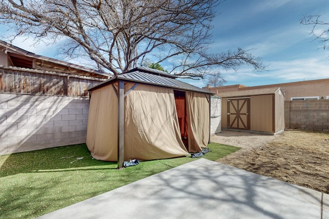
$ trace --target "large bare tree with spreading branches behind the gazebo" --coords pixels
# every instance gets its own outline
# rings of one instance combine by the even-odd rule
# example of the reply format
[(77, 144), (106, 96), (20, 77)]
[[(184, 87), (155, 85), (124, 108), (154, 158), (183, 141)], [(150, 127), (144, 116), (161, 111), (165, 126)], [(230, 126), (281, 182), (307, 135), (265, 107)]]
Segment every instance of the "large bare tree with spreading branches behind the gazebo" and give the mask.
[(0, 0), (0, 21), (16, 36), (63, 43), (62, 54), (86, 56), (99, 69), (121, 74), (156, 58), (170, 73), (204, 78), (214, 67), (265, 68), (259, 57), (237, 49), (210, 53), (214, 8), (223, 0)]

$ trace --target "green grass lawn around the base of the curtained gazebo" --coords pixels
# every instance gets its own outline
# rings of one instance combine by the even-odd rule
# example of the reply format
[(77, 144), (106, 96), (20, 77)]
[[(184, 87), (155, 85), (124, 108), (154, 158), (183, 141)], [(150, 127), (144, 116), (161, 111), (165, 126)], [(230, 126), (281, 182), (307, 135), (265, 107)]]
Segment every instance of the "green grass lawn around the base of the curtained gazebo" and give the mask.
[[(212, 161), (240, 149), (215, 143), (208, 147), (211, 152), (203, 158)], [(41, 216), (196, 159), (145, 161), (117, 170), (117, 163), (90, 156), (85, 144), (3, 155), (0, 218)]]

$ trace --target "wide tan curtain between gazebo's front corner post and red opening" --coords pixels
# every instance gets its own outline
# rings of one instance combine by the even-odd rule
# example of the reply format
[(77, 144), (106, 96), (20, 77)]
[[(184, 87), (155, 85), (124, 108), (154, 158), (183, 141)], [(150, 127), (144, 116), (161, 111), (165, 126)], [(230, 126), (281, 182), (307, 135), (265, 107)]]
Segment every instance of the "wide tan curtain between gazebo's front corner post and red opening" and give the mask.
[(125, 97), (125, 160), (186, 156), (172, 89), (138, 85)]

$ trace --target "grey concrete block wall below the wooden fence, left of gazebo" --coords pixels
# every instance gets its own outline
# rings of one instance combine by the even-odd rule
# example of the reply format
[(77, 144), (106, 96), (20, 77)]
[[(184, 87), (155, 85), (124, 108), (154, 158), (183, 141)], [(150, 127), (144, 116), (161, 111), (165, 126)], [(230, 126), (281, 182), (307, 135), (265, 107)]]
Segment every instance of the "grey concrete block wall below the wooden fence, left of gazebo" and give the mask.
[(89, 98), (0, 93), (0, 155), (86, 142)]

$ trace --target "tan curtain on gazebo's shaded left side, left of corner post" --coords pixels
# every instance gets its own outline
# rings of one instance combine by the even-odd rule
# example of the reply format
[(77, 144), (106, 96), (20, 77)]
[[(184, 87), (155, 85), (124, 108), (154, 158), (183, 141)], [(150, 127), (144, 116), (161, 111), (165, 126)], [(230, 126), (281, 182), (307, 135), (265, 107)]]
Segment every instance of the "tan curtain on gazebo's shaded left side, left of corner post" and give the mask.
[(86, 145), (102, 161), (118, 158), (118, 98), (110, 86), (94, 90), (90, 98)]

